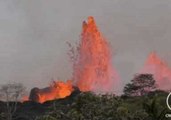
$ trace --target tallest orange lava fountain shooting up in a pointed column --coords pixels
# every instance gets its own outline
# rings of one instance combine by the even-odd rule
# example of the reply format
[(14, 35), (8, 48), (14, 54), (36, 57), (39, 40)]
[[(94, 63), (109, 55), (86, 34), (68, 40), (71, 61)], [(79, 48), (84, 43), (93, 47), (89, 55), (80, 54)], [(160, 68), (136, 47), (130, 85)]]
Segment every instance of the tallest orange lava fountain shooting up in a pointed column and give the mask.
[(112, 68), (109, 44), (98, 31), (93, 17), (83, 22), (81, 41), (74, 63), (74, 81), (81, 91), (118, 92), (118, 76)]

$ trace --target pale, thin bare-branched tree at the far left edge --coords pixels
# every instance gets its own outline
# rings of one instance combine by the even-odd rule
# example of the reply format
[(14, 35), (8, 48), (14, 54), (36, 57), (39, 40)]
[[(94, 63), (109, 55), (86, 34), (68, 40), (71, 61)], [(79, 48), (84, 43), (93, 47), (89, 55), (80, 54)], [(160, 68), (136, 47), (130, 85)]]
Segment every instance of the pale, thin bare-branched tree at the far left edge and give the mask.
[(17, 103), (22, 97), (25, 87), (21, 83), (4, 84), (0, 88), (0, 94), (6, 102), (6, 119), (12, 120), (12, 116), (17, 110)]

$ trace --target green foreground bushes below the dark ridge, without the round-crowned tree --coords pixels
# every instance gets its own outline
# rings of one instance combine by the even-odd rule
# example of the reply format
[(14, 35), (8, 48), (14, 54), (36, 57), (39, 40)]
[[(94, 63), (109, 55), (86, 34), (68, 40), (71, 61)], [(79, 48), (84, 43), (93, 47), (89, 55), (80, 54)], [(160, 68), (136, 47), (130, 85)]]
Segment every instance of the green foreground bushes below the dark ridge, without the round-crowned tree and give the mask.
[(167, 94), (159, 91), (150, 94), (117, 97), (81, 93), (71, 104), (54, 102), (36, 120), (168, 120), (165, 118), (169, 113), (165, 105)]

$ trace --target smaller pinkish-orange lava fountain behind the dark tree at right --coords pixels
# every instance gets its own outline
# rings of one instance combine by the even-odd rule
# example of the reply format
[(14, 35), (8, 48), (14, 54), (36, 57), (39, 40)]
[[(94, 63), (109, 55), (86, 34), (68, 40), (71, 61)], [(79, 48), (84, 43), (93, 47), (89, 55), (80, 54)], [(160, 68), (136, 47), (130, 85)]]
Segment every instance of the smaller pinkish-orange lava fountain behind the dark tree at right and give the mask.
[(153, 74), (159, 89), (171, 90), (171, 69), (156, 53), (153, 52), (149, 55), (140, 73)]

